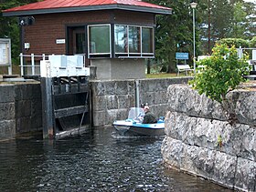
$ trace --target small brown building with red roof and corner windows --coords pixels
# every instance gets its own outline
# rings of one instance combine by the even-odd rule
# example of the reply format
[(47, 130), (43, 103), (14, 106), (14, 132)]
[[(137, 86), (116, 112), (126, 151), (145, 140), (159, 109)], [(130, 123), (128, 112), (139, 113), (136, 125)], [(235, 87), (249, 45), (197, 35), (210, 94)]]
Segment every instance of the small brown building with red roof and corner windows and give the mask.
[(143, 78), (155, 57), (155, 15), (171, 8), (139, 0), (44, 0), (7, 9), (18, 16), (23, 54), (83, 55), (99, 79)]

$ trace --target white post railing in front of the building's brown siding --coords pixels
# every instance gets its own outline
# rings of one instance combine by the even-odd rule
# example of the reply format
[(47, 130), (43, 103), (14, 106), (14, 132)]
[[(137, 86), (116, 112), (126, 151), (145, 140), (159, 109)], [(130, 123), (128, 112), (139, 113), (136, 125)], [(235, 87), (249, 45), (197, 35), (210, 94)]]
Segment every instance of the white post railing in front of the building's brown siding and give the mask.
[[(42, 54), (41, 56), (36, 56), (34, 54), (31, 55), (24, 55), (20, 53), (20, 76), (24, 76), (25, 72), (27, 72), (27, 76), (40, 76), (40, 60), (46, 60), (48, 56), (45, 54)], [(26, 58), (31, 58), (30, 63), (28, 63)], [(36, 64), (36, 61), (38, 61), (38, 64)]]

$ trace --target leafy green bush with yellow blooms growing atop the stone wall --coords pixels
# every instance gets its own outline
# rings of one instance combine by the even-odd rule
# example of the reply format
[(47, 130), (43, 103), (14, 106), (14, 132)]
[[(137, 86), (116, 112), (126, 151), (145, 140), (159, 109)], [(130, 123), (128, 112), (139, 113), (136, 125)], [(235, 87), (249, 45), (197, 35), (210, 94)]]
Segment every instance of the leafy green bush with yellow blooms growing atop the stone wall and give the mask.
[(247, 56), (239, 59), (235, 46), (216, 45), (212, 49), (212, 56), (198, 62), (205, 66), (201, 73), (189, 81), (198, 93), (206, 94), (213, 100), (222, 103), (229, 91), (244, 82), (244, 75), (248, 75), (250, 67), (246, 62)]

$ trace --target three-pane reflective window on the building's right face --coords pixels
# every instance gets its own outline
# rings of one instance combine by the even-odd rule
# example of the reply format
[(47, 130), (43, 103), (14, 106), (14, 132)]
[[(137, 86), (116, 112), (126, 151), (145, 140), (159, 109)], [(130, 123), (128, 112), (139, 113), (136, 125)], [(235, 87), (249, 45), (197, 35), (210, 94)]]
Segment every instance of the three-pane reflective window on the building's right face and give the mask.
[(115, 57), (154, 57), (153, 27), (115, 25)]

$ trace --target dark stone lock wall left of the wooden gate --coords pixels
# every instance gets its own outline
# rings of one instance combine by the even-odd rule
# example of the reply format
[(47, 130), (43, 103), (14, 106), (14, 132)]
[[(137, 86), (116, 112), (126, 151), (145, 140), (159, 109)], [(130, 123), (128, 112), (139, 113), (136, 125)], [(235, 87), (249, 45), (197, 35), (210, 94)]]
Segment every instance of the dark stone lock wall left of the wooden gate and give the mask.
[(12, 139), (42, 127), (40, 84), (0, 86), (0, 140)]

